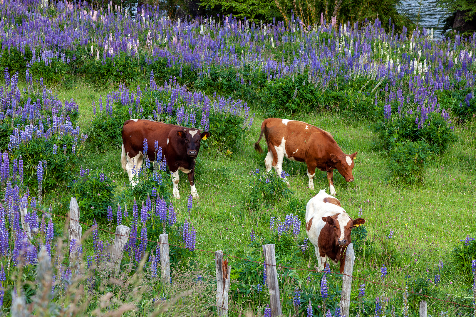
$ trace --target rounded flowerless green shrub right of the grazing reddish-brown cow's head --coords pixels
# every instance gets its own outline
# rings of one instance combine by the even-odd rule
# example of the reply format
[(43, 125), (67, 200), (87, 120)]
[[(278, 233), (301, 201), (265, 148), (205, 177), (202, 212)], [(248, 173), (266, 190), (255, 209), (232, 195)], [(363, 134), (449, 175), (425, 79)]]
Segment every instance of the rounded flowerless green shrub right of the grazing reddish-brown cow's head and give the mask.
[(430, 146), (425, 141), (394, 141), (390, 144), (388, 168), (396, 179), (421, 183), (430, 155)]

